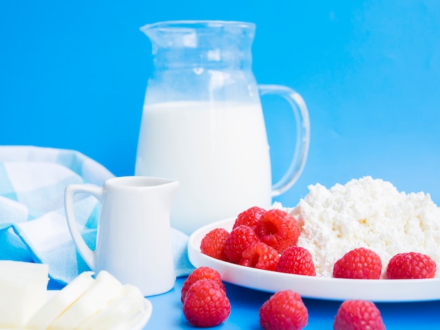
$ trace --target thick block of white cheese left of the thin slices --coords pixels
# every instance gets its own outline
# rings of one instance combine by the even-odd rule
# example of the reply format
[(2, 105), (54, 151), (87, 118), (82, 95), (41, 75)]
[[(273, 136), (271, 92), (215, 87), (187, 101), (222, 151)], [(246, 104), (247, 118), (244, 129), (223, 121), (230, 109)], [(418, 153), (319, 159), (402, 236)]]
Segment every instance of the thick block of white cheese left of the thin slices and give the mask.
[(46, 303), (48, 265), (0, 260), (0, 328), (23, 329)]

